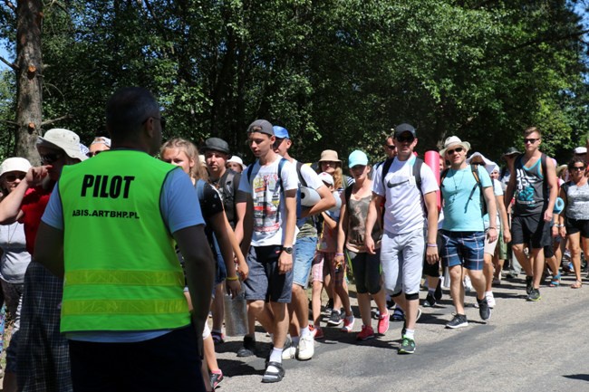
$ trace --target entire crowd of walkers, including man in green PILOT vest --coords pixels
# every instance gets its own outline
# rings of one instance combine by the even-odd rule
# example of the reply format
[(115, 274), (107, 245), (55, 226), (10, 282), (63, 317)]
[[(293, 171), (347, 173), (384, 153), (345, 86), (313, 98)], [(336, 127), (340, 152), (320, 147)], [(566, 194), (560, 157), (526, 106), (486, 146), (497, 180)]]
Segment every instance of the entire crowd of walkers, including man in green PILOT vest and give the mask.
[(518, 269), (527, 301), (562, 272), (583, 286), (589, 140), (546, 157), (532, 127), (503, 165), (457, 136), (420, 158), (403, 123), (384, 160), (356, 149), (345, 170), (333, 149), (297, 161), (288, 129), (267, 120), (245, 129), (249, 165), (223, 139), (162, 140), (164, 126), (150, 91), (124, 88), (107, 103), (109, 137), (86, 148), (50, 129), (36, 144), (42, 166), (0, 165), (0, 327), (12, 326), (3, 390), (212, 391), (224, 378), (226, 296), (246, 301), (237, 357), (259, 353), (257, 322), (272, 340), (261, 380), (275, 383), (284, 360), (314, 357), (322, 312), (359, 341), (402, 320), (398, 353), (412, 354), (420, 308), (437, 306), (442, 286), (449, 329), (468, 326), (468, 291), (489, 320), (493, 287)]

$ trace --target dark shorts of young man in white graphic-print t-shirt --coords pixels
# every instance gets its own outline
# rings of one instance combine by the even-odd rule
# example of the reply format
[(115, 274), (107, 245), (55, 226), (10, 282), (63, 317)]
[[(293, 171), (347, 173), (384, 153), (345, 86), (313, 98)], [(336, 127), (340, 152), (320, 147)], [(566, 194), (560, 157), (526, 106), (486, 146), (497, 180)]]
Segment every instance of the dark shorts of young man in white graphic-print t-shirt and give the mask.
[[(278, 272), (282, 246), (250, 246), (247, 254), (249, 276), (244, 281), (247, 301), (290, 303), (293, 291), (293, 270)], [(293, 253), (294, 260), (294, 253)]]

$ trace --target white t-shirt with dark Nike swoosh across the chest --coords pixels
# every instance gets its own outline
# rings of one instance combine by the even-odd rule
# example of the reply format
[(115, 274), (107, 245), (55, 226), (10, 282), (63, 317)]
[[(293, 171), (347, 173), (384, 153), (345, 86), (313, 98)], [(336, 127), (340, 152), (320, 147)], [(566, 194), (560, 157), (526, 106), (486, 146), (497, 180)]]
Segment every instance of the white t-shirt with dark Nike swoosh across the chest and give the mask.
[(438, 181), (433, 171), (425, 163), (421, 165), (421, 191), (417, 188), (413, 177), (415, 158), (401, 161), (395, 158), (389, 172), (382, 183), (382, 169), (380, 166), (374, 173), (372, 192), (384, 196), (384, 230), (391, 234), (405, 234), (422, 229), (425, 222), (425, 208), (423, 198), (430, 192), (439, 189)]

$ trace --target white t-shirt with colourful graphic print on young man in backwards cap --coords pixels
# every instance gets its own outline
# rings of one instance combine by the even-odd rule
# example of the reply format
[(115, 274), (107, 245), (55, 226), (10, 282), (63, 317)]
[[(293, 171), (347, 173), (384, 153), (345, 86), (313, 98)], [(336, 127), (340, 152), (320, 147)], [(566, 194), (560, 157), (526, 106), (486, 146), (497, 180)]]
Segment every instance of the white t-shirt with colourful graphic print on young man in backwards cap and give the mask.
[(239, 181), (239, 190), (250, 193), (254, 199), (253, 246), (285, 244), (286, 208), (283, 190), (297, 189), (299, 180), (296, 167), (285, 160), (279, 181), (278, 165), (282, 159), (277, 156), (274, 162), (262, 167), (256, 160), (251, 171), (251, 182), (247, 178), (249, 167)]

